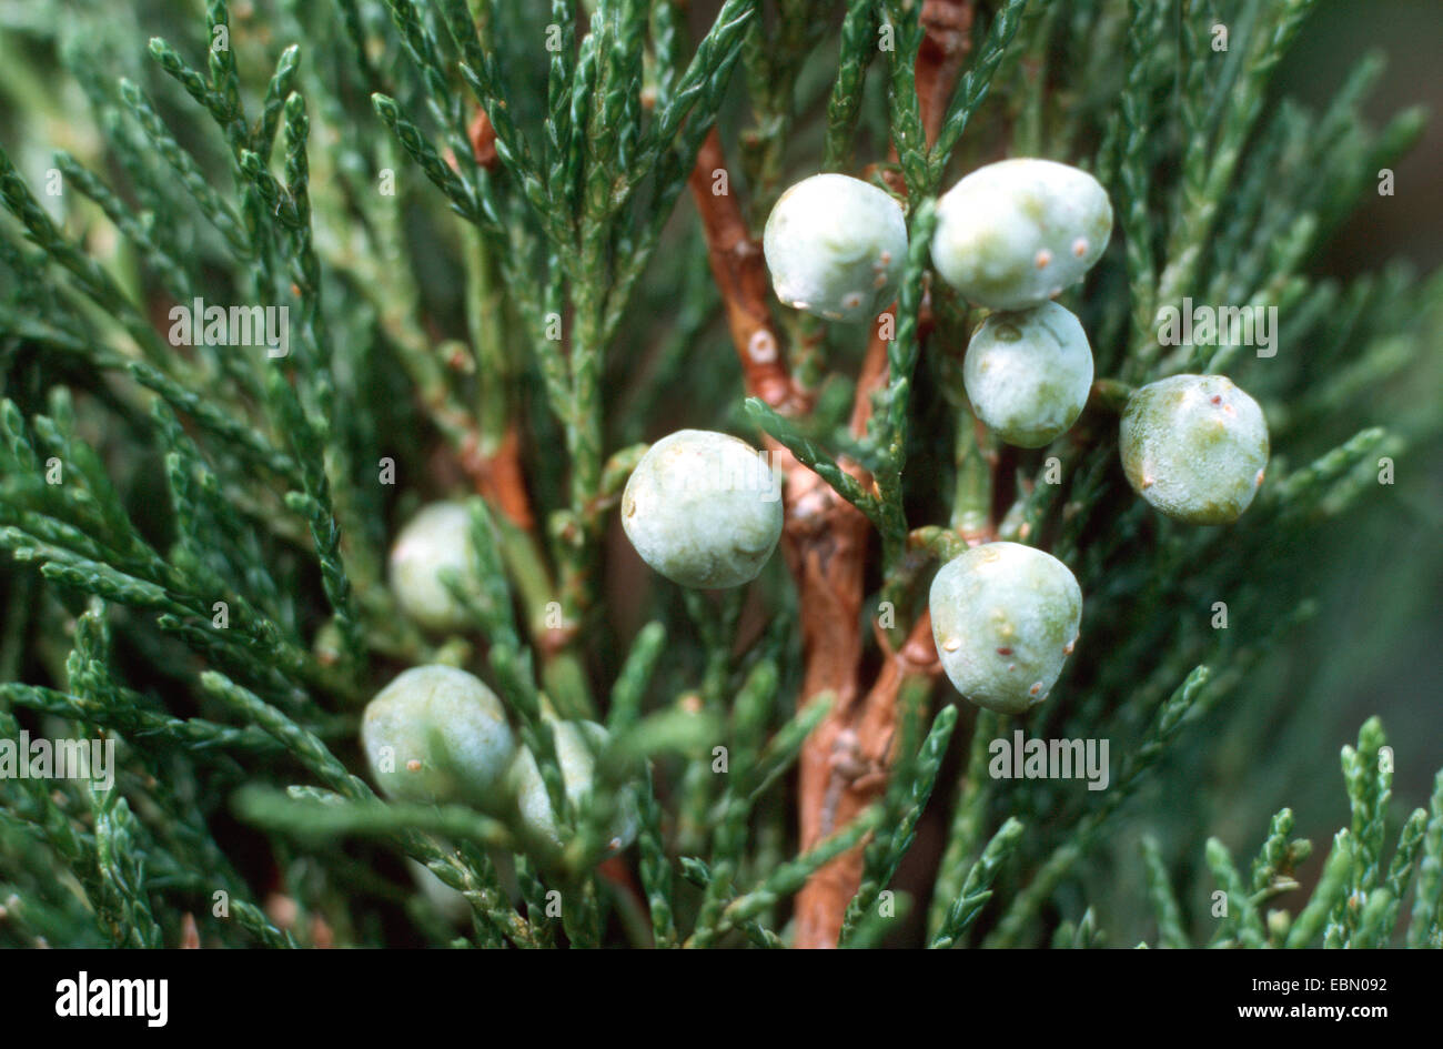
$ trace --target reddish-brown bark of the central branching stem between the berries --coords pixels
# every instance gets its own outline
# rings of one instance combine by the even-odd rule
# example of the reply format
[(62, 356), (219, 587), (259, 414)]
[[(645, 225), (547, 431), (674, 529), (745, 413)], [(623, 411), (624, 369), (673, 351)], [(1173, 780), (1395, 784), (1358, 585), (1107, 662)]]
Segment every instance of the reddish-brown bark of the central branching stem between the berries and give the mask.
[[(916, 85), (928, 141), (935, 139), (957, 84), (971, 16), (970, 0), (928, 0), (922, 9), (926, 36), (918, 53)], [(799, 414), (810, 403), (781, 359), (762, 253), (747, 232), (734, 196), (713, 193), (716, 173), (724, 169), (726, 159), (713, 130), (697, 156), (691, 192), (701, 212), (711, 273), (726, 303), (746, 390), (778, 411)], [(887, 323), (895, 323), (895, 312), (889, 315)], [(924, 338), (929, 326), (925, 306), (921, 322), (918, 338)], [(866, 431), (872, 416), (872, 392), (887, 381), (887, 342), (880, 330), (882, 319), (873, 326), (857, 379), (851, 416), (857, 434)], [(801, 844), (808, 848), (846, 825), (885, 789), (895, 758), (902, 684), (916, 674), (937, 674), (939, 668), (931, 618), (924, 615), (900, 651), (886, 652), (876, 681), (861, 694), (867, 519), (775, 442), (768, 442), (768, 447), (778, 455), (786, 475), (782, 551), (798, 589), (805, 661), (798, 704), (805, 706), (824, 693), (835, 695), (831, 713), (808, 737), (799, 760)], [(863, 485), (872, 483), (859, 465), (847, 460), (840, 465)], [(837, 945), (847, 903), (860, 882), (861, 860), (861, 848), (854, 848), (807, 883), (797, 900), (797, 947)]]

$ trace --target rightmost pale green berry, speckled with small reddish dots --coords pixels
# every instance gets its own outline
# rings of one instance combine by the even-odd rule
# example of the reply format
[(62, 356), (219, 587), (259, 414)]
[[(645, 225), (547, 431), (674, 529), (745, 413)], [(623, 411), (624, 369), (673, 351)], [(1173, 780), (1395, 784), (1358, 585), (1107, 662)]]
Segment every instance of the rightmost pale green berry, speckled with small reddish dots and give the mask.
[(1118, 450), (1128, 482), (1156, 509), (1228, 524), (1263, 486), (1267, 420), (1225, 375), (1173, 375), (1128, 398)]

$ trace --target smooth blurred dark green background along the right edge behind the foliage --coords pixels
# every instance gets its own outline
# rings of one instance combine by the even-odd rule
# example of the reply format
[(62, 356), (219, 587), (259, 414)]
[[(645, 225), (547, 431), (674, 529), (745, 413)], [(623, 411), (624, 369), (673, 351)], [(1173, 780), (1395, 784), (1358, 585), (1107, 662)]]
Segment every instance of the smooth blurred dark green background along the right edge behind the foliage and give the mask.
[[(1443, 3), (1325, 0), (1278, 71), (1273, 95), (1322, 110), (1369, 53), (1387, 61), (1364, 107), (1369, 123), (1381, 126), (1423, 104), (1427, 128), (1394, 169), (1394, 195), (1367, 196), (1306, 268), (1348, 280), (1404, 260), (1421, 277), (1443, 264)], [(1426, 395), (1437, 403), (1443, 398), (1439, 317), (1431, 319), (1427, 345)], [(1307, 348), (1284, 351), (1306, 355)], [(1359, 424), (1390, 421), (1381, 404), (1359, 405)], [(1219, 717), (1193, 736), (1195, 756), (1182, 758), (1196, 763), (1189, 772), (1209, 789), (1190, 794), (1182, 784), (1192, 776), (1185, 775), (1163, 778), (1176, 785), (1172, 792), (1156, 785), (1144, 791), (1133, 802), (1127, 833), (1114, 841), (1111, 870), (1107, 863), (1094, 870), (1089, 900), (1111, 897), (1114, 913), (1107, 918), (1115, 923), (1104, 925), (1131, 925), (1130, 942), (1152, 935), (1136, 860), (1143, 833), (1182, 847), (1185, 861), (1190, 857), (1198, 880), (1183, 908), (1196, 915), (1212, 889), (1203, 838), (1216, 835), (1234, 856), (1248, 856), (1271, 814), (1291, 807), (1296, 835), (1313, 840), (1313, 859), (1302, 872), (1310, 889), (1332, 834), (1349, 820), (1338, 753), (1356, 745), (1358, 726), (1372, 714), (1382, 719), (1394, 749), (1390, 827), (1427, 805), (1443, 765), (1443, 442), (1434, 437), (1413, 449), (1397, 463), (1395, 483), (1382, 498), (1359, 501), (1351, 514), (1315, 530), (1312, 540), (1296, 571), (1300, 592), (1316, 594), (1316, 616), (1293, 631)], [(1290, 553), (1278, 551), (1280, 561)], [(1258, 633), (1267, 628), (1229, 623)], [(1219, 726), (1222, 736), (1201, 753), (1196, 745)], [(1182, 752), (1188, 753), (1186, 737)]]

